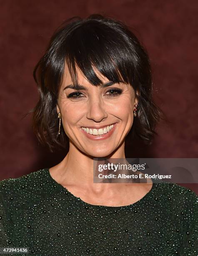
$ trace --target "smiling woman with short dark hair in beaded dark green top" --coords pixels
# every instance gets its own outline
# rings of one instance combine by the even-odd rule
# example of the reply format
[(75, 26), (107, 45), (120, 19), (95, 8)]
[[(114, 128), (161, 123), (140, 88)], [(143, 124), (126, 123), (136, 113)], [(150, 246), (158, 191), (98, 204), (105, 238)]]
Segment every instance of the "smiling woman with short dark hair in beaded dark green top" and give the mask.
[[(0, 182), (0, 247), (30, 255), (197, 255), (197, 199), (173, 183), (93, 183), (93, 159), (125, 159), (162, 118), (148, 55), (121, 22), (91, 15), (58, 28), (34, 71), (33, 129), (63, 161)], [(25, 254), (24, 254), (25, 255)]]

